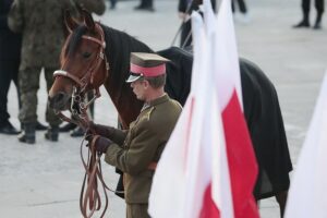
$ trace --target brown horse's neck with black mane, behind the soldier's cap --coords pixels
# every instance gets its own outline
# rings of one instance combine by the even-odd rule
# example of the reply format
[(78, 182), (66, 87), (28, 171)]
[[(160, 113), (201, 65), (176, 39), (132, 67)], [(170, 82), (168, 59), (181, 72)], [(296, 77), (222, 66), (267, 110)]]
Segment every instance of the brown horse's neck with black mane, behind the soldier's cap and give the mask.
[[(106, 57), (110, 65), (109, 76), (105, 82), (112, 102), (126, 126), (141, 111), (143, 101), (137, 100), (130, 84), (124, 81), (130, 73), (131, 52), (154, 52), (148, 46), (114, 28), (101, 25), (106, 41)], [(134, 108), (134, 110), (131, 110)]]

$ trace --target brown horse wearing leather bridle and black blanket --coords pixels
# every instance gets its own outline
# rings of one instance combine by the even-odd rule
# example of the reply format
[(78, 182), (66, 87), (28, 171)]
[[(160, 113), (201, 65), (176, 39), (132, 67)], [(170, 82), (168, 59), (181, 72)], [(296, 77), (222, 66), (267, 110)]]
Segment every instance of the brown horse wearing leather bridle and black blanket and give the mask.
[[(55, 72), (56, 81), (49, 92), (50, 107), (56, 111), (70, 109), (78, 114), (85, 108), (78, 104), (85, 93), (90, 89), (98, 93), (104, 84), (123, 126), (128, 128), (143, 106), (124, 82), (130, 70), (130, 53), (154, 51), (125, 33), (95, 23), (86, 11), (82, 13), (83, 25), (65, 14), (71, 34), (62, 48), (61, 70)], [(167, 64), (166, 92), (183, 105), (190, 92), (193, 57), (179, 48), (159, 53), (171, 60)], [(277, 93), (254, 63), (240, 59), (240, 69), (244, 116), (259, 166), (254, 195), (257, 201), (275, 195), (282, 215), (292, 165)]]

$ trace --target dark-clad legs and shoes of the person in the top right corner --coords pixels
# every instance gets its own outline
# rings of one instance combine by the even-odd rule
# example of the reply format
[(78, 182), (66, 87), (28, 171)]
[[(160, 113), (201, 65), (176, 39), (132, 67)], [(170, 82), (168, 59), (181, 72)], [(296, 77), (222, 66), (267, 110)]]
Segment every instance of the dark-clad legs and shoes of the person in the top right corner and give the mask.
[[(310, 3), (311, 0), (302, 0), (302, 13), (303, 13), (303, 19), (302, 21), (294, 25), (294, 28), (299, 27), (310, 27)], [(322, 28), (322, 19), (323, 19), (323, 13), (324, 13), (324, 0), (315, 0), (315, 7), (317, 11), (317, 16), (315, 24), (313, 26), (314, 29), (320, 29)]]

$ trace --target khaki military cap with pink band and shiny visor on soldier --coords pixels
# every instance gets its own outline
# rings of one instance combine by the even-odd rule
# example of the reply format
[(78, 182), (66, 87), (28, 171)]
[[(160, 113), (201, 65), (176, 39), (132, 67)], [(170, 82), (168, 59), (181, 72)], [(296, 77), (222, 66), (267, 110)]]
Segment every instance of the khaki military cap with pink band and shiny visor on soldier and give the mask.
[(169, 60), (156, 53), (132, 52), (130, 76), (126, 83), (142, 77), (155, 77), (166, 73), (166, 62)]

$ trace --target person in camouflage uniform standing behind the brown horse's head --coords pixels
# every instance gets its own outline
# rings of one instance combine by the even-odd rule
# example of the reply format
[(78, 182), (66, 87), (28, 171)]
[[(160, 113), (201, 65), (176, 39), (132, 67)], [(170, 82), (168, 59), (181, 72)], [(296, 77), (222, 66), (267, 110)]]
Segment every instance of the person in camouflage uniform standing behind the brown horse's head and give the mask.
[[(39, 88), (39, 75), (44, 69), (47, 81), (47, 89), (53, 83), (52, 73), (59, 69), (59, 57), (64, 41), (63, 13), (64, 10), (75, 10), (75, 4), (102, 13), (92, 2), (100, 0), (14, 0), (9, 12), (8, 24), (15, 33), (22, 33), (22, 55), (19, 73), (22, 108), (20, 121), (23, 131), (19, 141), (35, 143), (35, 123), (37, 120), (37, 90)], [(86, 8), (87, 9), (87, 8)], [(47, 107), (46, 121), (49, 129), (46, 138), (58, 141), (60, 119)]]

